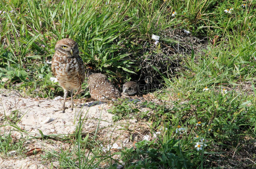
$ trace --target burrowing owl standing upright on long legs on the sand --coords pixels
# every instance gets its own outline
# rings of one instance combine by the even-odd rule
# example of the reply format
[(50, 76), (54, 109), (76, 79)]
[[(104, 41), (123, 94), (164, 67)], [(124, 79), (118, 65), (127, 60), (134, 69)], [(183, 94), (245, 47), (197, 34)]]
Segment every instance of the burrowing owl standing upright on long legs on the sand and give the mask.
[(81, 90), (84, 82), (84, 62), (79, 56), (78, 45), (73, 39), (57, 41), (52, 56), (52, 72), (64, 90), (63, 113), (68, 91), (71, 93), (71, 110), (73, 110), (73, 90)]

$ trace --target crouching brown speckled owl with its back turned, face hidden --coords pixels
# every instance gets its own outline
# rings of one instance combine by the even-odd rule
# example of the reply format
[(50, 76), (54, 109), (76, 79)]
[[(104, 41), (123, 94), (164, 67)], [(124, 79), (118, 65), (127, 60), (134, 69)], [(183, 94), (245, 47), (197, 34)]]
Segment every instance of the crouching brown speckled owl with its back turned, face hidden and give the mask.
[(97, 101), (120, 97), (118, 89), (107, 80), (107, 76), (101, 73), (94, 73), (90, 75), (87, 83), (91, 98)]

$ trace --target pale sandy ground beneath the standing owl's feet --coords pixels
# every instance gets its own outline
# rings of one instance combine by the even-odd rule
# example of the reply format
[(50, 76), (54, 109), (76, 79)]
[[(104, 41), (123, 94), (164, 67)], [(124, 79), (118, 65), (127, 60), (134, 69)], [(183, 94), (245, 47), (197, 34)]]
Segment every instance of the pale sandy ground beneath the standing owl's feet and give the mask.
[[(0, 136), (9, 134), (13, 140), (23, 138), (32, 138), (44, 135), (73, 134), (78, 126), (79, 118), (84, 119), (82, 132), (85, 134), (95, 134), (97, 130), (97, 139), (106, 143), (102, 149), (122, 149), (133, 146), (133, 141), (142, 140), (150, 135), (150, 129), (145, 123), (138, 122), (136, 119), (121, 120), (113, 123), (112, 116), (107, 112), (111, 108), (111, 103), (100, 103), (96, 101), (86, 102), (84, 99), (76, 99), (74, 110), (71, 111), (71, 101), (66, 101), (66, 107), (63, 114), (61, 105), (63, 98), (58, 96), (55, 99), (29, 98), (24, 97), (17, 91), (0, 90)], [(18, 111), (18, 128), (10, 126), (6, 117)], [(141, 123), (141, 124), (140, 124)], [(99, 126), (98, 126), (99, 125)], [(22, 130), (22, 131), (18, 131)], [(130, 136), (133, 134), (133, 141)], [(51, 140), (51, 139), (50, 139)], [(29, 150), (38, 148), (42, 153), (46, 151), (60, 151), (68, 149), (70, 144), (56, 140), (31, 139), (23, 145), (26, 148), (26, 154)], [(50, 162), (50, 161), (49, 161)], [(53, 166), (58, 167), (58, 161), (52, 161)], [(0, 156), (0, 169), (37, 169), (49, 168), (50, 163), (42, 163), (37, 155), (21, 156), (16, 151), (8, 153), (8, 156)]]

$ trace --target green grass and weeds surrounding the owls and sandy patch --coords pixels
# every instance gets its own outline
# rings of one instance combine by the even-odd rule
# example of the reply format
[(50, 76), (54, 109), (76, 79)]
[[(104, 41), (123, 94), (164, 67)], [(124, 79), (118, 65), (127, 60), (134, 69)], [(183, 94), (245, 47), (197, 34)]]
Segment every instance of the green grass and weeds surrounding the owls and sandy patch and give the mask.
[[(230, 8), (231, 13), (224, 12)], [(62, 95), (60, 86), (50, 81), (48, 62), (57, 40), (66, 37), (78, 43), (86, 70), (106, 73), (118, 85), (128, 80), (144, 84), (150, 75), (164, 86), (152, 93), (161, 103), (119, 100), (109, 110), (115, 115), (113, 121), (133, 117), (150, 124), (152, 134), (160, 131), (157, 138), (114, 154), (104, 153), (97, 131), (94, 136), (81, 133), (84, 120), (80, 119), (75, 136), (61, 140), (70, 142), (72, 149), (45, 152), (43, 161), (57, 159), (61, 168), (101, 168), (102, 163), (116, 168), (120, 161), (112, 156), (118, 154), (125, 168), (256, 167), (252, 162), (238, 160), (236, 166), (229, 162), (234, 157), (247, 158), (238, 154), (253, 146), (256, 138), (253, 0), (1, 0), (0, 10), (1, 88), (26, 91), (32, 97)], [(174, 11), (177, 14), (172, 17)], [(192, 38), (185, 43), (172, 40), (172, 33), (166, 32), (183, 29), (190, 34), (183, 33), (180, 38), (205, 39), (207, 47), (198, 48)], [(157, 46), (152, 34), (160, 35)], [(195, 50), (170, 55), (175, 45)], [(176, 68), (172, 62), (177, 62)], [(203, 91), (205, 87), (209, 90)], [(86, 84), (82, 88), (86, 91)], [(85, 96), (88, 92), (80, 95)], [(22, 133), (16, 125), (17, 113), (3, 120)], [(201, 125), (196, 125), (199, 121)], [(178, 126), (185, 133), (176, 133)], [(0, 135), (0, 154), (5, 156), (22, 149), (23, 140), (12, 142), (10, 134)], [(46, 137), (52, 138), (59, 137)], [(207, 146), (197, 151), (196, 142)], [(255, 162), (255, 151), (252, 157)]]

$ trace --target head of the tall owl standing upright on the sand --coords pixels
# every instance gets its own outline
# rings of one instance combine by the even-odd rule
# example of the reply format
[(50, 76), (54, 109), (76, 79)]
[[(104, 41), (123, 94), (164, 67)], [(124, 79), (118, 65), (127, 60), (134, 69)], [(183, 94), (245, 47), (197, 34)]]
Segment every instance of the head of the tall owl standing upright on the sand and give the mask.
[(78, 45), (75, 40), (64, 38), (57, 41), (55, 45), (55, 51), (73, 56), (78, 54)]

